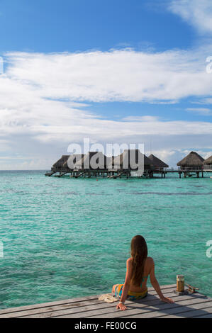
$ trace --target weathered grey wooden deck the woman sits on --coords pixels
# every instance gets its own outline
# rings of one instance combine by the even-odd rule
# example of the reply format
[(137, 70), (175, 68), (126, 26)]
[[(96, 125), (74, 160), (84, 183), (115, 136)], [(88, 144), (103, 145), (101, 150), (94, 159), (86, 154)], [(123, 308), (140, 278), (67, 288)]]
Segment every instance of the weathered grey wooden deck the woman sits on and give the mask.
[(50, 303), (13, 307), (0, 310), (0, 318), (211, 318), (212, 298), (200, 293), (176, 295), (176, 285), (162, 286), (162, 292), (174, 304), (162, 303), (149, 288), (147, 298), (138, 302), (126, 301), (126, 311), (116, 310), (116, 303), (98, 300), (99, 295), (58, 300)]

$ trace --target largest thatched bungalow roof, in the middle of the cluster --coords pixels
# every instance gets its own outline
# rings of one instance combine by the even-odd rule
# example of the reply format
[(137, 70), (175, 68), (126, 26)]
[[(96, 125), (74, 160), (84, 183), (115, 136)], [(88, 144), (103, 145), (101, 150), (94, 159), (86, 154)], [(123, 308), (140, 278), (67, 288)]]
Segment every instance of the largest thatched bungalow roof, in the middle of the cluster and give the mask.
[(123, 153), (113, 158), (114, 169), (131, 169), (136, 171), (138, 163), (144, 164), (145, 170), (150, 170), (152, 162), (139, 149), (125, 149)]

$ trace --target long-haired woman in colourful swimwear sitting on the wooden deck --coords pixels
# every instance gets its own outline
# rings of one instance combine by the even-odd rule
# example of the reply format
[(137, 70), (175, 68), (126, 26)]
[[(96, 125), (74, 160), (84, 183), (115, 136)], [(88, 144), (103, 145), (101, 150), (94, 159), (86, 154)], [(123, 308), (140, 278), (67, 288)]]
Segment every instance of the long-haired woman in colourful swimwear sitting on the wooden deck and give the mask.
[(117, 309), (126, 310), (125, 300), (138, 300), (147, 296), (147, 278), (150, 275), (152, 287), (166, 303), (174, 303), (171, 298), (166, 298), (160, 290), (155, 277), (154, 260), (147, 256), (147, 243), (143, 236), (137, 235), (131, 240), (131, 257), (127, 260), (127, 271), (124, 284), (115, 284), (112, 293), (121, 298)]

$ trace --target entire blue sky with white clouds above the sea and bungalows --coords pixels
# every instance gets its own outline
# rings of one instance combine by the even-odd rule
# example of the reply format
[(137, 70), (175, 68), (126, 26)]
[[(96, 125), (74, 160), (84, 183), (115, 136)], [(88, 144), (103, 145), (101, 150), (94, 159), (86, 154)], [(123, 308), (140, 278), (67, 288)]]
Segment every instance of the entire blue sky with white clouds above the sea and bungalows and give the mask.
[(208, 0), (1, 0), (0, 169), (49, 169), (83, 137), (144, 142), (171, 166), (211, 155), (211, 14)]

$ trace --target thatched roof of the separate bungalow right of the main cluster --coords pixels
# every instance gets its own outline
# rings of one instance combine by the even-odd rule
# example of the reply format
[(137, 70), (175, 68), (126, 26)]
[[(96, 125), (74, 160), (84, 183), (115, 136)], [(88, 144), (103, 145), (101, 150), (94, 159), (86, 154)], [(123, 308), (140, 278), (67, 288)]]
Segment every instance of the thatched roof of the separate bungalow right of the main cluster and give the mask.
[(177, 163), (181, 170), (192, 171), (192, 170), (203, 170), (204, 159), (197, 152), (190, 152), (184, 159)]

